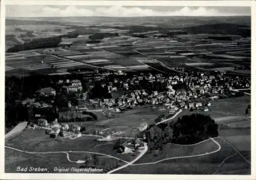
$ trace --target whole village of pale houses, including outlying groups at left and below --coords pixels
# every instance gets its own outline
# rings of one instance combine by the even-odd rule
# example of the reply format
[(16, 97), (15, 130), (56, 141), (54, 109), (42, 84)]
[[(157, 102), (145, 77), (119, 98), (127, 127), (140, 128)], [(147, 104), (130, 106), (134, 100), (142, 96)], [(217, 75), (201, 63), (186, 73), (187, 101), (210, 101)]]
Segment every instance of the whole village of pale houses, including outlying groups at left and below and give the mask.
[[(183, 74), (183, 76), (163, 76), (162, 74), (152, 75), (140, 74), (134, 77), (116, 76), (113, 81), (108, 81), (110, 74), (104, 76), (104, 83), (101, 83), (102, 88), (107, 88), (108, 93), (113, 95), (118, 91), (125, 92), (116, 98), (96, 98), (89, 99), (88, 93), (94, 88), (94, 84), (91, 79), (87, 82), (89, 85), (89, 92), (84, 92), (82, 88), (82, 82), (78, 79), (74, 80), (61, 80), (56, 83), (66, 89), (67, 93), (75, 93), (78, 99), (78, 104), (74, 105), (70, 101), (68, 103), (69, 111), (76, 113), (98, 111), (102, 113), (106, 118), (113, 118), (116, 114), (123, 111), (129, 111), (136, 106), (151, 105), (153, 109), (158, 111), (167, 111), (166, 117), (174, 116), (179, 110), (201, 110), (207, 112), (210, 110), (212, 100), (219, 98), (228, 98), (230, 96), (236, 96), (239, 91), (236, 89), (246, 89), (250, 87), (248, 79), (240, 77), (228, 77), (223, 73), (216, 73), (216, 75), (204, 75), (204, 73), (197, 73), (197, 76)], [(100, 79), (102, 80), (102, 78)], [(100, 81), (98, 78), (95, 82)], [(151, 89), (139, 89), (140, 83), (159, 83), (162, 88), (159, 91), (152, 91)], [(165, 85), (165, 86), (163, 86)], [(186, 88), (177, 88), (179, 85), (185, 85)], [(136, 89), (137, 88), (137, 89)], [(174, 89), (176, 88), (176, 90)], [(38, 97), (44, 97), (51, 99), (58, 93), (52, 87), (41, 88), (36, 92)], [(241, 93), (239, 93), (241, 94)], [(242, 93), (243, 94), (243, 93)], [(241, 96), (241, 95), (240, 95)], [(51, 100), (53, 103), (54, 101)], [(21, 101), (26, 106), (36, 107), (38, 109), (51, 108), (51, 103), (38, 102), (36, 98), (25, 99)], [(57, 107), (58, 108), (58, 107)], [(46, 117), (40, 114), (35, 114), (35, 123), (30, 123), (29, 128), (44, 128), (46, 134), (49, 134), (51, 138), (69, 138), (76, 139), (81, 136), (96, 136), (99, 142), (108, 142), (123, 138), (120, 130), (113, 127), (108, 127), (101, 130), (93, 130), (89, 133), (84, 133), (84, 127), (78, 124), (64, 123), (58, 118), (53, 122), (49, 122)], [(60, 119), (61, 120), (61, 119)], [(161, 119), (164, 121), (164, 119)], [(147, 128), (147, 123), (142, 123), (136, 127), (136, 131), (143, 131)], [(144, 148), (143, 138), (142, 140), (135, 137), (126, 137), (128, 140), (117, 149), (117, 153), (133, 152), (138, 149)], [(145, 137), (144, 137), (145, 138)], [(135, 142), (136, 143), (135, 143)]]

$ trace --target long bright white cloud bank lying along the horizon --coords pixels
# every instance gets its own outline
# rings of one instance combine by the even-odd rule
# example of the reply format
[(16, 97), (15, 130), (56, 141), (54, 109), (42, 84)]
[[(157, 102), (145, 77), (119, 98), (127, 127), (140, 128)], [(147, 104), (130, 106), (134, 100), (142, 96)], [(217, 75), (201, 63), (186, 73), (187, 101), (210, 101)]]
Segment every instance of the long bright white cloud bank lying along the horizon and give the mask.
[(66, 17), (66, 16), (109, 16), (109, 17), (137, 17), (137, 16), (234, 16), (248, 15), (234, 12), (221, 12), (210, 7), (183, 7), (173, 11), (157, 11), (152, 9), (142, 9), (140, 7), (97, 7), (94, 9), (66, 6), (65, 8), (50, 6), (19, 6), (7, 8), (7, 17)]

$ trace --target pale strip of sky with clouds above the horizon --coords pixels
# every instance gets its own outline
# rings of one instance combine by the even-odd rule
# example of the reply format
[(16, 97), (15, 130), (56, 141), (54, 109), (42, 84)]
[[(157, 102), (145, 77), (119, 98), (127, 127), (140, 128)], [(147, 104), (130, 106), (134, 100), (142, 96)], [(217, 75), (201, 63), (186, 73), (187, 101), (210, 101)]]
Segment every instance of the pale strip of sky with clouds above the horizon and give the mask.
[(7, 17), (244, 16), (250, 7), (6, 5)]

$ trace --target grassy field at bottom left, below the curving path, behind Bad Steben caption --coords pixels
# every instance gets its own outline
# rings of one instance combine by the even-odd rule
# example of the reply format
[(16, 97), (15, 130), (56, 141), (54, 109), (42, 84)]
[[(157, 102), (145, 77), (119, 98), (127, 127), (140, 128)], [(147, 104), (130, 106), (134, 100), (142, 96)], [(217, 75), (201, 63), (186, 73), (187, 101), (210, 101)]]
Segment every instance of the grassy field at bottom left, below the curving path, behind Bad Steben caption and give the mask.
[[(85, 158), (88, 160), (88, 164), (77, 164), (74, 162), (69, 162), (67, 159), (66, 153), (50, 153), (50, 154), (30, 154), (24, 152), (18, 152), (15, 150), (11, 150), (6, 148), (6, 158), (5, 158), (5, 172), (6, 173), (15, 173), (17, 172), (17, 166), (20, 167), (40, 167), (47, 168), (48, 171), (46, 173), (56, 173), (54, 171), (55, 167), (58, 168), (84, 168), (84, 167), (96, 167), (99, 169), (103, 169), (101, 173), (108, 172), (116, 167), (122, 166), (124, 163), (122, 161), (113, 159), (113, 158), (105, 158), (102, 155), (96, 155), (98, 158), (97, 164), (94, 164), (93, 156), (90, 153), (69, 153), (69, 158), (71, 161), (84, 160)], [(38, 162), (40, 162), (38, 164)], [(33, 173), (33, 172), (29, 172)], [(36, 173), (36, 172), (34, 172)], [(72, 171), (63, 172), (63, 173), (74, 173)], [(77, 172), (75, 172), (77, 173)], [(80, 172), (82, 173), (82, 172)], [(92, 173), (92, 172), (91, 172)], [(96, 172), (100, 173), (100, 172)]]

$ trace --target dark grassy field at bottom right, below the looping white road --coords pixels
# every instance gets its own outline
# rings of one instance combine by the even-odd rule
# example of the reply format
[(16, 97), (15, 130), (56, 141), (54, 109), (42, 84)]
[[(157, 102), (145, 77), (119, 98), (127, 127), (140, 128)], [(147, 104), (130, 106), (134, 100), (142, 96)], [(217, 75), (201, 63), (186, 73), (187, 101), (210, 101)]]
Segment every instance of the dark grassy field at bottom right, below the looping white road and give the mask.
[[(236, 152), (224, 141), (218, 138), (216, 141), (220, 143), (222, 148), (220, 151), (213, 154), (194, 158), (168, 160), (157, 164), (129, 166), (115, 173), (151, 174), (154, 172), (155, 174), (213, 174), (219, 169), (219, 165), (224, 159)], [(248, 168), (248, 163), (245, 161), (234, 161), (233, 165)], [(233, 168), (232, 170), (236, 169), (238, 168)], [(225, 171), (225, 169), (223, 171)], [(248, 174), (247, 172), (240, 173)]]

